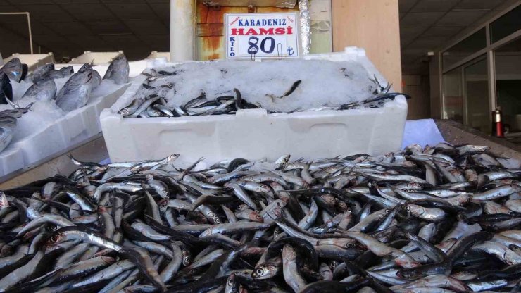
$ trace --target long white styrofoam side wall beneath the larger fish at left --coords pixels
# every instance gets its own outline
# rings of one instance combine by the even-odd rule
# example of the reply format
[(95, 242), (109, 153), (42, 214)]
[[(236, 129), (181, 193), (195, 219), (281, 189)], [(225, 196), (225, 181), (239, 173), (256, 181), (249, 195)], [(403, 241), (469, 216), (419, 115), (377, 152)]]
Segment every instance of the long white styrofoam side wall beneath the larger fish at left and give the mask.
[(130, 84), (122, 85), (106, 96), (89, 99), (86, 106), (70, 111), (39, 132), (13, 142), (0, 152), (0, 176), (32, 165), (84, 142), (101, 132), (99, 115), (109, 108)]

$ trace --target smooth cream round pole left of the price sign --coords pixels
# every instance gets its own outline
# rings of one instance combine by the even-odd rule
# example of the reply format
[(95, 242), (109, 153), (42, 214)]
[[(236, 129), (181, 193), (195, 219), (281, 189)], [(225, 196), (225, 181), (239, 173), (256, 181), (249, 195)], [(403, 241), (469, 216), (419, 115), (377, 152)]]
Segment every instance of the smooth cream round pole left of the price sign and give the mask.
[(170, 0), (170, 61), (195, 59), (195, 1)]

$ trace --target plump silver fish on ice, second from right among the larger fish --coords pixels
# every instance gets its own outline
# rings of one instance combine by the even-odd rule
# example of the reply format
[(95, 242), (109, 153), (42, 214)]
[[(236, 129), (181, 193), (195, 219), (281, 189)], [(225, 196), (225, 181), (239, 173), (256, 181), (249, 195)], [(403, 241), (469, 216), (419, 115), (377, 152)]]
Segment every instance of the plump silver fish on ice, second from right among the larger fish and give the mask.
[[(97, 71), (92, 70), (89, 63), (85, 63), (77, 73), (70, 76), (69, 80), (56, 94), (56, 106), (67, 112), (85, 106), (89, 101), (94, 85), (98, 82), (94, 80), (96, 78), (95, 73)], [(99, 79), (99, 82), (101, 82), (101, 79)]]

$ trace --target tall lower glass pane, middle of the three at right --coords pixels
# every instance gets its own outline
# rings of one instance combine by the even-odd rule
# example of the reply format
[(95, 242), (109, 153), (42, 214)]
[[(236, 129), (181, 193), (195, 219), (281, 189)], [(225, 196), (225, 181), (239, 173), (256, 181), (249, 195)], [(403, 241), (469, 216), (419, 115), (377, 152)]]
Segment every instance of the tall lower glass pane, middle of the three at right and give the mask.
[(465, 66), (465, 104), (467, 125), (481, 132), (491, 132), (489, 77), (487, 58)]

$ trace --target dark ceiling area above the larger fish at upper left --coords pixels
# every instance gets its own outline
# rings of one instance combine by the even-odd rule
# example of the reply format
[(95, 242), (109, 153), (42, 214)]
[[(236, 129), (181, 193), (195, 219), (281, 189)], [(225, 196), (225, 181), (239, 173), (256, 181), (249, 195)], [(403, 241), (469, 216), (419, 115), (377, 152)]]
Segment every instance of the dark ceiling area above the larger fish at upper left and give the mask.
[[(28, 11), (34, 52), (75, 57), (124, 50), (145, 58), (169, 50), (170, 0), (0, 0), (0, 12)], [(0, 51), (30, 53), (25, 15), (0, 15)]]

